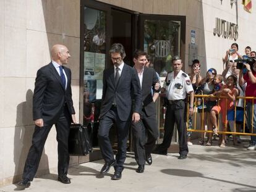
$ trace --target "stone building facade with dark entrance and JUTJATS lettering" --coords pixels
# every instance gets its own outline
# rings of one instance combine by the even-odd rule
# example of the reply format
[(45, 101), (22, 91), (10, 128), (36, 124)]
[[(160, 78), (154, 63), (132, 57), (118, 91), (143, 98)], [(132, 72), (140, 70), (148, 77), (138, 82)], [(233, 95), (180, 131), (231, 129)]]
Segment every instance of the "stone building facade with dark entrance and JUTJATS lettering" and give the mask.
[[(69, 48), (77, 119), (94, 128), (111, 43), (125, 44), (130, 65), (134, 49), (148, 51), (159, 73), (169, 70), (173, 54), (181, 55), (187, 73), (192, 58), (202, 74), (210, 67), (221, 73), (232, 43), (241, 54), (246, 46), (256, 50), (255, 16), (239, 0), (232, 6), (229, 0), (0, 0), (0, 186), (21, 178), (34, 129), (35, 75), (51, 61), (53, 44)], [(38, 175), (56, 171), (57, 154), (53, 127)], [(98, 158), (94, 152), (71, 157), (70, 164)]]

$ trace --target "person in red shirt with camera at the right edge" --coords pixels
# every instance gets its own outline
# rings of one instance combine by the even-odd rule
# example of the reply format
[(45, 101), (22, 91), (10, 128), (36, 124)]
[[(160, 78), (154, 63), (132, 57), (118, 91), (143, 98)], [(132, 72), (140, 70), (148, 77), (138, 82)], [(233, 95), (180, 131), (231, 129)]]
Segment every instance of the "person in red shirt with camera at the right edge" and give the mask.
[[(239, 75), (239, 84), (247, 83), (247, 86), (245, 88), (245, 96), (247, 97), (255, 97), (256, 96), (256, 62), (252, 64), (244, 64), (246, 67), (247, 72), (242, 73), (243, 70), (240, 71)], [(253, 122), (253, 133), (256, 133), (256, 99), (254, 100), (254, 103), (252, 103), (252, 99), (247, 99), (247, 126), (251, 130), (252, 128), (252, 115), (254, 117)], [(253, 108), (254, 107), (254, 108)], [(254, 109), (254, 111), (252, 111)], [(253, 113), (253, 114), (252, 114)], [(256, 149), (256, 136), (251, 136), (251, 143), (250, 146), (247, 148), (248, 150), (255, 150)]]

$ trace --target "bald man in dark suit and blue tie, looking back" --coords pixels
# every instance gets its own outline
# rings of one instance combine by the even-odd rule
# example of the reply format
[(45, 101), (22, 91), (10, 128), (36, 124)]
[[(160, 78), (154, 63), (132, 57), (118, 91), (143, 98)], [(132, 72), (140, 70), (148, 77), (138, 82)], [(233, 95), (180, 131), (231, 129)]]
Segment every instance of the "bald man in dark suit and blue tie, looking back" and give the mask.
[(70, 183), (67, 177), (69, 168), (68, 138), (71, 122), (75, 120), (75, 110), (71, 92), (71, 71), (63, 65), (70, 58), (66, 46), (56, 44), (51, 49), (52, 61), (36, 73), (33, 94), (33, 120), (35, 131), (32, 146), (28, 152), (19, 186), (28, 187), (38, 169), (41, 153), (51, 127), (55, 124), (58, 141), (58, 180)]

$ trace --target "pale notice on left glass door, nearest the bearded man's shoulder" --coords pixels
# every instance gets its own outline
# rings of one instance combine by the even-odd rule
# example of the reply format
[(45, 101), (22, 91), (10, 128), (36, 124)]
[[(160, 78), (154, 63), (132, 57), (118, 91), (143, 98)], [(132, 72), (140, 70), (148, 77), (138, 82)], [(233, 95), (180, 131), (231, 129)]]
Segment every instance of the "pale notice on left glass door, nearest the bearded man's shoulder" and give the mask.
[(95, 79), (103, 79), (103, 71), (105, 69), (106, 54), (95, 53)]

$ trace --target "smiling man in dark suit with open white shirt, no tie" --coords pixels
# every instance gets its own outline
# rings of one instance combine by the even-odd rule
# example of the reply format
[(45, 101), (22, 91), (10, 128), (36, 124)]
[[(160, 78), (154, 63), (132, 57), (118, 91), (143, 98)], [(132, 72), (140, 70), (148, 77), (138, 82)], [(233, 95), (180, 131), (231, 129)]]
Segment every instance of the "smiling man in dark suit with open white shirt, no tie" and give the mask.
[(138, 173), (144, 172), (146, 161), (149, 165), (152, 164), (151, 151), (158, 138), (155, 101), (159, 96), (160, 83), (155, 70), (145, 67), (148, 62), (146, 56), (147, 53), (144, 51), (136, 50), (134, 52), (134, 68), (137, 70), (142, 88), (140, 120), (137, 123), (132, 123), (135, 159), (139, 164), (136, 170)]

